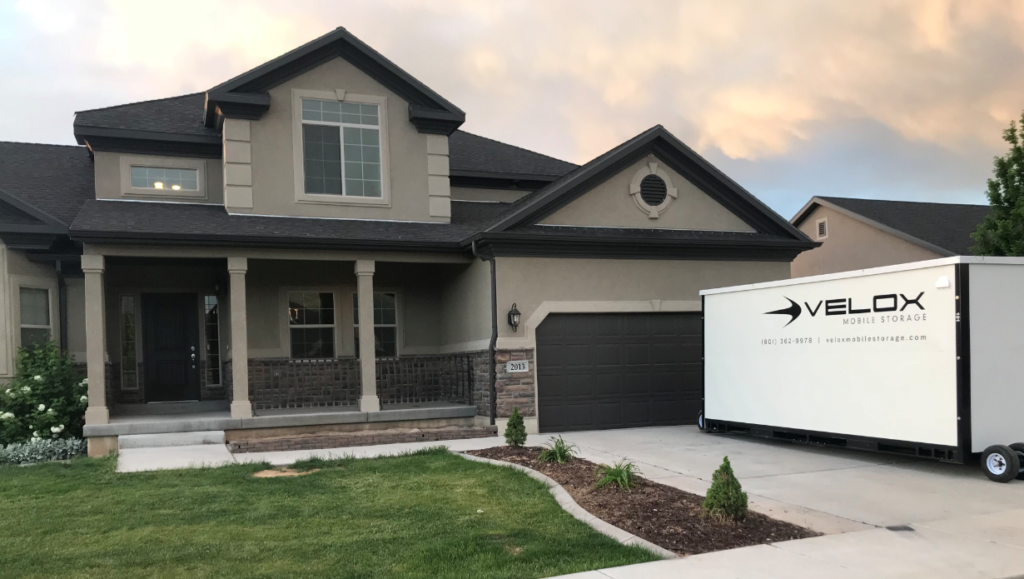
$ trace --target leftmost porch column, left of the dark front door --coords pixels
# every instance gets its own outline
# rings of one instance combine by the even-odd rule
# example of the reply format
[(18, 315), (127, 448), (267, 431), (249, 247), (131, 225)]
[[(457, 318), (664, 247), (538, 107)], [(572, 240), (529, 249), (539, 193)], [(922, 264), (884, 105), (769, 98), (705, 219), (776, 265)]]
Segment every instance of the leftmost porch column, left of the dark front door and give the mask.
[(83, 255), (85, 273), (85, 362), (89, 379), (89, 407), (86, 424), (106, 424), (106, 318), (103, 292), (103, 256)]

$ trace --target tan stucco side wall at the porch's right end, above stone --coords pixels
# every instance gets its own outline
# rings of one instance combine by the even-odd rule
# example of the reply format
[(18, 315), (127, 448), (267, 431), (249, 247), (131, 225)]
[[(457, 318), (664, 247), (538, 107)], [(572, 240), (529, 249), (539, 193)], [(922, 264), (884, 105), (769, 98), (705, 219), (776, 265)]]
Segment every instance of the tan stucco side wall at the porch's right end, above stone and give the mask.
[(441, 344), (450, 351), (490, 344), (490, 264), (477, 259), (445, 268), (441, 297)]

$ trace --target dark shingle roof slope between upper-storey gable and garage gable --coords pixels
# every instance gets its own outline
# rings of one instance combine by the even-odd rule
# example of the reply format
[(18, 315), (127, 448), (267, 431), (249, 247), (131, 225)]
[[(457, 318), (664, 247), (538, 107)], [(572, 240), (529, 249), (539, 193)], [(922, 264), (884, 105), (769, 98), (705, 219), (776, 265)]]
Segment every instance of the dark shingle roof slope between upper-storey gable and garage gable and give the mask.
[(501, 173), (558, 177), (577, 167), (554, 157), (462, 130), (449, 136), (449, 155), (453, 174)]

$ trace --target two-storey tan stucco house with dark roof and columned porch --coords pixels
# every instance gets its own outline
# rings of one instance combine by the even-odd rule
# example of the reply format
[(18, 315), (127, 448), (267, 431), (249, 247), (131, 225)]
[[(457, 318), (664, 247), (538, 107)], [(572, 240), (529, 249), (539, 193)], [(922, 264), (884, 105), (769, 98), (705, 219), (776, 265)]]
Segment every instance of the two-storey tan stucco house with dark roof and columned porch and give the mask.
[(85, 362), (93, 455), (513, 407), (530, 431), (693, 422), (697, 292), (815, 243), (660, 126), (578, 167), (464, 118), (338, 29), (80, 112), (83, 147), (0, 144), (0, 375), (46, 337)]

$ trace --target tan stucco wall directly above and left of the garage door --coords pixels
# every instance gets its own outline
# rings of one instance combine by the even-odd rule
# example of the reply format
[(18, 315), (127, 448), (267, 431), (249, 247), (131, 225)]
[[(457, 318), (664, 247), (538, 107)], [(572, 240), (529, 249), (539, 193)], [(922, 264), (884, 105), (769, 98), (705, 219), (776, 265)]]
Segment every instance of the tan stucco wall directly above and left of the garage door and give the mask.
[[(702, 289), (783, 280), (782, 261), (498, 257), (500, 347), (532, 347), (539, 312), (699, 311)], [(655, 300), (655, 301), (652, 301)], [(518, 332), (505, 319), (516, 303)], [(539, 325), (539, 324), (537, 324)]]

